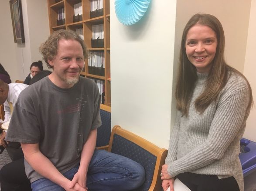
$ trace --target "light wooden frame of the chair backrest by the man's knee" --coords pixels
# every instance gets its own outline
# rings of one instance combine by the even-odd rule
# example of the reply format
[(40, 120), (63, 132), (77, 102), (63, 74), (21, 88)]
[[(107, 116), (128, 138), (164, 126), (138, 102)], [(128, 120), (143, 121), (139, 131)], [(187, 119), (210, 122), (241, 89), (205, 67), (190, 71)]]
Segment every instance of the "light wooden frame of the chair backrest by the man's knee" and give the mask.
[(160, 173), (161, 173), (162, 165), (164, 165), (165, 158), (167, 157), (167, 149), (159, 148), (153, 143), (147, 141), (146, 139), (141, 138), (140, 136), (135, 135), (132, 132), (129, 132), (121, 128), (119, 125), (115, 125), (111, 132), (109, 148), (108, 148), (109, 152), (111, 152), (111, 148), (113, 145), (113, 137), (115, 134), (120, 135), (123, 138), (126, 138), (127, 140), (139, 145), (140, 147), (144, 148), (145, 150), (149, 151), (151, 154), (157, 157), (154, 176), (153, 176), (153, 180), (149, 188), (149, 191), (160, 191), (162, 189), (162, 186), (161, 186), (162, 180), (160, 177)]

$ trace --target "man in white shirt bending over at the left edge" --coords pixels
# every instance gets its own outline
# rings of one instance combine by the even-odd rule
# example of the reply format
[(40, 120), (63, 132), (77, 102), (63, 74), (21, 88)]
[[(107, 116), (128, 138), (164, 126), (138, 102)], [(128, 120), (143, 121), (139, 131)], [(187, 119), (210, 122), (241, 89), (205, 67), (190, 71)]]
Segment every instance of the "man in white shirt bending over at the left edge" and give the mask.
[[(25, 89), (28, 85), (22, 83), (10, 83), (7, 84), (0, 79), (0, 104), (4, 106), (4, 121), (0, 120), (0, 123), (7, 122), (10, 120), (13, 108), (17, 102), (20, 92)], [(0, 145), (7, 147), (4, 138), (6, 131), (3, 131), (0, 135)]]

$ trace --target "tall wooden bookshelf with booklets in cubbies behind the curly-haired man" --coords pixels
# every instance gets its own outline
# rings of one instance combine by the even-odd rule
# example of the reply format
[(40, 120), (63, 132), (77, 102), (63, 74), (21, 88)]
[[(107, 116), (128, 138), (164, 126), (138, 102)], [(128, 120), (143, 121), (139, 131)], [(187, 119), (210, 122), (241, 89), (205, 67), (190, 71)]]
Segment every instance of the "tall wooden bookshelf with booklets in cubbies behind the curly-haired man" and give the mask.
[[(101, 74), (91, 72), (89, 59), (85, 60), (85, 67), (81, 72), (82, 76), (101, 80), (105, 89), (104, 105), (111, 106), (111, 76), (110, 76), (110, 15), (109, 0), (92, 0), (97, 1), (97, 10), (91, 11), (91, 0), (47, 0), (50, 33), (55, 30), (67, 29), (80, 31), (89, 53), (100, 53), (104, 56)], [(99, 2), (100, 1), (100, 2)], [(80, 13), (75, 16), (75, 9), (80, 3)], [(101, 8), (103, 5), (103, 8)], [(62, 14), (61, 14), (62, 10)], [(103, 26), (104, 39), (92, 40), (93, 27), (96, 25)], [(82, 33), (81, 33), (82, 31)], [(100, 42), (99, 42), (100, 41)], [(101, 43), (101, 45), (99, 45)], [(105, 67), (105, 68), (104, 68)], [(89, 70), (90, 68), (90, 70)], [(94, 70), (93, 70), (94, 71)], [(101, 107), (102, 107), (101, 106)]]

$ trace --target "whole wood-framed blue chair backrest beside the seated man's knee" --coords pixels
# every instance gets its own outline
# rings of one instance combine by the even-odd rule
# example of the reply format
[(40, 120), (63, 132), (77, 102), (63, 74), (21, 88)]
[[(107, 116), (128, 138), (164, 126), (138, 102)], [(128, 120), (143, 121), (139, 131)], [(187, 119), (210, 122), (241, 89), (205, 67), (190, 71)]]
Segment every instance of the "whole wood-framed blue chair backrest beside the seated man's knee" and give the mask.
[(108, 151), (128, 157), (145, 168), (146, 180), (136, 191), (162, 190), (160, 172), (167, 156), (167, 149), (159, 148), (116, 125), (112, 129)]

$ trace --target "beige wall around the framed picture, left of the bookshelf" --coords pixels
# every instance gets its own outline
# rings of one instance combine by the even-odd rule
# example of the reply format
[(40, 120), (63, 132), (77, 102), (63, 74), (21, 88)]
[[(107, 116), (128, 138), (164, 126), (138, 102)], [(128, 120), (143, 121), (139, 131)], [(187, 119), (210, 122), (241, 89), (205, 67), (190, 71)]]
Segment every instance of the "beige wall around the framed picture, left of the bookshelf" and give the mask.
[[(14, 43), (9, 0), (0, 2), (0, 25), (6, 26), (0, 35), (0, 62), (12, 82), (24, 80), (32, 62), (42, 58), (38, 47), (50, 31), (46, 0), (21, 0), (25, 43)], [(3, 43), (2, 43), (3, 42)], [(44, 64), (44, 68), (46, 65)]]

